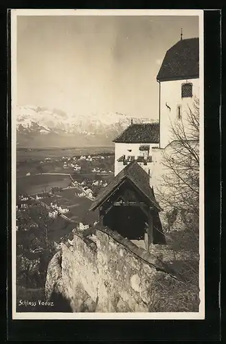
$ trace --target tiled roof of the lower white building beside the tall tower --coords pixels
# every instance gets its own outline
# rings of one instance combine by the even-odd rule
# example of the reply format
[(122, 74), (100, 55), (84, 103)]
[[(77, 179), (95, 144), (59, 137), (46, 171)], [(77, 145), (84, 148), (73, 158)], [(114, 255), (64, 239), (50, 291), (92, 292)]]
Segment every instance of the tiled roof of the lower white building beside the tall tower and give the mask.
[(159, 123), (135, 123), (130, 125), (113, 142), (159, 143)]

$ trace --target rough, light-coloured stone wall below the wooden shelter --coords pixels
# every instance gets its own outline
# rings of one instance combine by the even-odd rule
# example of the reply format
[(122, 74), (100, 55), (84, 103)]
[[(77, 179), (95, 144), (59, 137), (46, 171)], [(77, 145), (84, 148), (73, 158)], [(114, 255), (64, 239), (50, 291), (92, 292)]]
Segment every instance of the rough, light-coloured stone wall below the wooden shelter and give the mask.
[(74, 245), (61, 247), (62, 261), (54, 257), (61, 274), (54, 275), (50, 262), (46, 294), (49, 298), (54, 289), (61, 290), (74, 312), (148, 312), (155, 277), (174, 275), (156, 255), (109, 228), (76, 229)]

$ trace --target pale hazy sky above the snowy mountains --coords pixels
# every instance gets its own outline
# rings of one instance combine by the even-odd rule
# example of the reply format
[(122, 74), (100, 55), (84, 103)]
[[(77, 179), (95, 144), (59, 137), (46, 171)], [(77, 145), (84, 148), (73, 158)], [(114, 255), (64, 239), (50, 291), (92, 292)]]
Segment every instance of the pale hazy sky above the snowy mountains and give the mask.
[(199, 36), (191, 16), (18, 16), (17, 103), (70, 116), (159, 117), (166, 51)]

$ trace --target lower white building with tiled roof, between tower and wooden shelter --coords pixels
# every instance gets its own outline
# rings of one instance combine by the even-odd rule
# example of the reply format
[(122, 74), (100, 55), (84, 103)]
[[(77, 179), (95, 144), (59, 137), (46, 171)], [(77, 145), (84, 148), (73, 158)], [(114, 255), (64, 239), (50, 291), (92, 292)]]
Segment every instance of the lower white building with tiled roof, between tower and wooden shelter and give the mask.
[(159, 147), (159, 123), (135, 123), (127, 127), (115, 142), (115, 175), (130, 162), (137, 161), (152, 174), (152, 148)]

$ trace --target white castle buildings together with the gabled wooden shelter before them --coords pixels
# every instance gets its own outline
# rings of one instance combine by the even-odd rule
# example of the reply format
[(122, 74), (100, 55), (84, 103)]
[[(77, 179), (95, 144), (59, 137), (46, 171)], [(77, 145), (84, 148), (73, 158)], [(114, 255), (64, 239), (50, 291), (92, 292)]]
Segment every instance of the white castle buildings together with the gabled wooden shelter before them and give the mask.
[[(159, 122), (131, 121), (115, 143), (115, 178), (96, 197), (90, 210), (99, 208), (100, 222), (135, 244), (166, 244), (155, 197), (163, 172), (163, 151), (173, 147), (173, 125), (183, 123), (199, 98), (199, 39), (182, 39), (166, 52), (157, 74)], [(189, 133), (188, 133), (189, 135)]]

